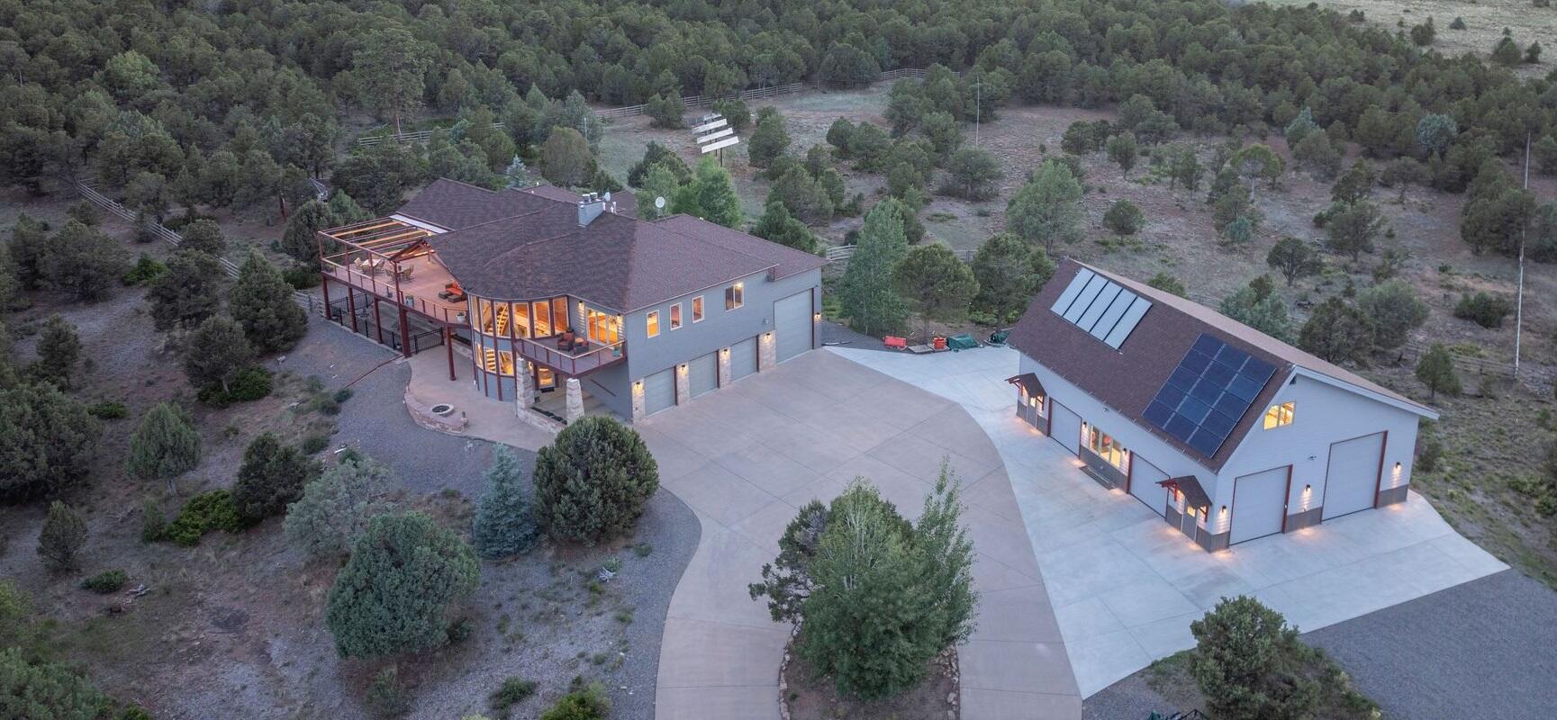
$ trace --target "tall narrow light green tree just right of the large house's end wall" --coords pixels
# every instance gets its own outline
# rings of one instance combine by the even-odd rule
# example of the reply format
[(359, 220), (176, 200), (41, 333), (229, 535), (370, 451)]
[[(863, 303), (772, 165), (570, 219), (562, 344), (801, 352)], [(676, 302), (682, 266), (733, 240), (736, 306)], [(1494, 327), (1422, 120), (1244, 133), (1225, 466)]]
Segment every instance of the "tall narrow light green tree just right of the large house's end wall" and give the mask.
[(838, 300), (849, 325), (859, 333), (891, 333), (908, 317), (908, 306), (892, 286), (892, 269), (908, 255), (902, 211), (902, 205), (887, 197), (866, 213), (859, 244), (844, 271)]

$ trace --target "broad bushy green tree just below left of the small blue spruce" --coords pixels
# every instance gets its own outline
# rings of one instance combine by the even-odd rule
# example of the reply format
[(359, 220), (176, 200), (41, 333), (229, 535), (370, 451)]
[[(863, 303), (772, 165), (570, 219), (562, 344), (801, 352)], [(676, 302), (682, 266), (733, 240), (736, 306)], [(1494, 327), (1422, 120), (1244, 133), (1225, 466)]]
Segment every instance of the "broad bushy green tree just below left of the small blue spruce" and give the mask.
[(480, 577), (470, 546), (427, 515), (380, 515), (335, 575), (324, 622), (343, 658), (431, 650), (448, 641), (450, 608)]

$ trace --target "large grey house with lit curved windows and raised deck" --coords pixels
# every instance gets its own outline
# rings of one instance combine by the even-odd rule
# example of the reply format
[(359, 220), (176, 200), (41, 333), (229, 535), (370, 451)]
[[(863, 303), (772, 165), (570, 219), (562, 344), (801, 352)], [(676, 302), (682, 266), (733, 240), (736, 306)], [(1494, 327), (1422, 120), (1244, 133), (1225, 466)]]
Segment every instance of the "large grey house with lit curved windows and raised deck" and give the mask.
[(450, 379), (469, 347), (486, 397), (562, 421), (585, 406), (638, 420), (816, 347), (825, 260), (634, 208), (436, 180), (318, 235), (325, 313), (405, 356), (444, 345)]

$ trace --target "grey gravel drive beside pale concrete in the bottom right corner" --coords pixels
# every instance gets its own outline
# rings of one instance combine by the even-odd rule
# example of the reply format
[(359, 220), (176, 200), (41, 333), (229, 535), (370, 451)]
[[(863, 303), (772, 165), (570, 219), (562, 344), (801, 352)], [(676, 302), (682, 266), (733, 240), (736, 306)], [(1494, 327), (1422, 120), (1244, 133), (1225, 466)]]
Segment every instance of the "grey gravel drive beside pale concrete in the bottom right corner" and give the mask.
[[(1549, 717), (1557, 708), (1557, 592), (1517, 571), (1303, 633), (1392, 720)], [(1169, 712), (1148, 670), (1087, 698), (1087, 720)]]

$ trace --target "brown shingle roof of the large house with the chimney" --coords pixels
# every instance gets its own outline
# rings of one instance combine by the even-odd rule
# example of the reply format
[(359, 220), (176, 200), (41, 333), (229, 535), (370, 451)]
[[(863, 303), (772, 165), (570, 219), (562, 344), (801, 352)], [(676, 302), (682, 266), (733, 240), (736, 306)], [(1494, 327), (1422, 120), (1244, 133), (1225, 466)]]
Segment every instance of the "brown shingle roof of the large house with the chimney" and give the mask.
[[(472, 294), (494, 299), (581, 297), (632, 311), (771, 271), (785, 277), (825, 260), (698, 218), (640, 221), (631, 193), (617, 213), (578, 224), (579, 196), (547, 185), (490, 191), (438, 180), (399, 215), (452, 232), (430, 243)], [(508, 213), (508, 215), (503, 215)]]

